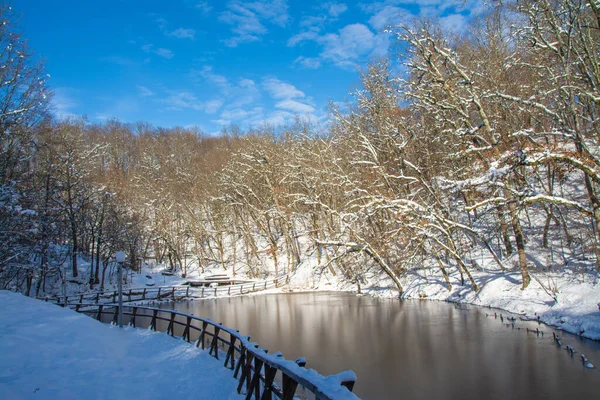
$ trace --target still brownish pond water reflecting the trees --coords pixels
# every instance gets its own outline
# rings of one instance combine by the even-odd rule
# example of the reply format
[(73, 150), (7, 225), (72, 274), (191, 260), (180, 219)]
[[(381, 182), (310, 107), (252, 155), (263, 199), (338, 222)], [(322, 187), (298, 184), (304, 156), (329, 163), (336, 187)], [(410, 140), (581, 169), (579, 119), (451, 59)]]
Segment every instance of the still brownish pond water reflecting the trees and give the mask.
[(600, 367), (599, 342), (560, 332), (563, 346), (578, 351), (571, 357), (554, 344), (550, 327), (517, 320), (513, 329), (494, 310), (347, 293), (205, 299), (175, 308), (238, 329), (286, 359), (306, 357), (307, 368), (323, 375), (351, 369), (363, 399), (600, 398), (599, 370), (584, 368), (579, 357)]

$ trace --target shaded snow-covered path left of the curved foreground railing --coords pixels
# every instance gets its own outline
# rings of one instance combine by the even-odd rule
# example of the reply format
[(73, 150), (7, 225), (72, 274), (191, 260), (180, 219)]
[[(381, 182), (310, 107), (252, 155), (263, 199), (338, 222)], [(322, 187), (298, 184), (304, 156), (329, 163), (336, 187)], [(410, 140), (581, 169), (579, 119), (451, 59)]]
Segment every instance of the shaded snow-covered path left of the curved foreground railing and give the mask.
[(232, 371), (164, 333), (0, 291), (0, 399), (238, 399)]

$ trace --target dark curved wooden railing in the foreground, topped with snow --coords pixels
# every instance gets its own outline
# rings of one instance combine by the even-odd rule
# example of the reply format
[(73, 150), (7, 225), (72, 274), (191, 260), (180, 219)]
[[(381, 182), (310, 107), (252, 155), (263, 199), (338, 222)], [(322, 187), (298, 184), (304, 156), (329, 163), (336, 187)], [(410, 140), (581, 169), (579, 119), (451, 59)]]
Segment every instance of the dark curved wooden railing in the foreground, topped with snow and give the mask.
[[(103, 322), (116, 323), (119, 312), (115, 304), (70, 303), (66, 306)], [(164, 331), (173, 337), (208, 349), (211, 356), (223, 360), (238, 380), (237, 392), (246, 399), (315, 398), (322, 400), (358, 399), (352, 393), (356, 375), (345, 371), (328, 377), (305, 368), (306, 360), (285, 360), (280, 352), (267, 350), (250, 342), (249, 336), (206, 318), (175, 310), (144, 306), (124, 306), (124, 323), (140, 328)], [(297, 397), (296, 397), (297, 396)]]

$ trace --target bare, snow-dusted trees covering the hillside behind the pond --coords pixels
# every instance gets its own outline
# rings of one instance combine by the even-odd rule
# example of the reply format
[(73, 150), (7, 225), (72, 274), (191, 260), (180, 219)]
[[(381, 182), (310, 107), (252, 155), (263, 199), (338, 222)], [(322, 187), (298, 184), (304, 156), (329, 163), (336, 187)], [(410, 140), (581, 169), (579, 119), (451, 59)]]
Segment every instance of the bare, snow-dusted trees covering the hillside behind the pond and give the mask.
[[(482, 259), (518, 268), (523, 288), (532, 262), (598, 268), (597, 2), (492, 2), (460, 36), (425, 20), (389, 31), (397, 56), (365, 68), (326, 131), (54, 122), (45, 83), (15, 83), (40, 106), (2, 100), (0, 283), (37, 292), (66, 257), (76, 276), (82, 254), (102, 284), (117, 249), (131, 265), (252, 276), (314, 254), (359, 288), (377, 270), (400, 292), (424, 266), (475, 290)], [(1, 57), (2, 74), (18, 70)], [(20, 68), (15, 82), (23, 68), (41, 80)]]

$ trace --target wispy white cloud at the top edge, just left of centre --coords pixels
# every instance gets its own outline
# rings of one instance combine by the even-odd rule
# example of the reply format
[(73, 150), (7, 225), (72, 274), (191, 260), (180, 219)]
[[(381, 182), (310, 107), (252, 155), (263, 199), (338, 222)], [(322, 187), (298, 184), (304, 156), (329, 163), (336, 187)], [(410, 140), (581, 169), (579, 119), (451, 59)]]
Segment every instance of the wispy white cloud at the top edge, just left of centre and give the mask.
[(226, 46), (236, 47), (240, 43), (260, 40), (268, 30), (263, 22), (285, 26), (289, 19), (287, 4), (284, 0), (257, 0), (245, 2), (234, 0), (229, 2), (227, 10), (219, 16), (219, 20), (231, 25), (231, 38), (224, 40)]

